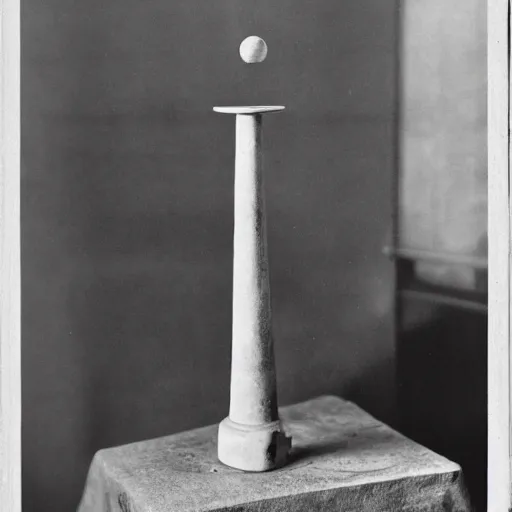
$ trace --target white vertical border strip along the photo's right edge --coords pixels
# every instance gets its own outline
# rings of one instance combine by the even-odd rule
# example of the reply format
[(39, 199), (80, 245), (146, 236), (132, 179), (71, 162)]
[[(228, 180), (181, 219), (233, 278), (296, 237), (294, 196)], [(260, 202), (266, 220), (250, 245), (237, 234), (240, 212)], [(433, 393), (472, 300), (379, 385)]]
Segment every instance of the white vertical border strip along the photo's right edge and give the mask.
[(488, 0), (488, 512), (511, 507), (509, 0)]

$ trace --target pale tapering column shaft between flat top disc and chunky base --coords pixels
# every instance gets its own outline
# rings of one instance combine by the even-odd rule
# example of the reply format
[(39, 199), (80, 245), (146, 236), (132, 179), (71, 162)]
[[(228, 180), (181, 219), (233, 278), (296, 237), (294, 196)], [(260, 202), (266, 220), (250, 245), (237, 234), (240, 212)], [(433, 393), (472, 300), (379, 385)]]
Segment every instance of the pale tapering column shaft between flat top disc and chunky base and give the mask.
[(230, 418), (245, 425), (278, 417), (261, 164), (261, 114), (237, 115)]

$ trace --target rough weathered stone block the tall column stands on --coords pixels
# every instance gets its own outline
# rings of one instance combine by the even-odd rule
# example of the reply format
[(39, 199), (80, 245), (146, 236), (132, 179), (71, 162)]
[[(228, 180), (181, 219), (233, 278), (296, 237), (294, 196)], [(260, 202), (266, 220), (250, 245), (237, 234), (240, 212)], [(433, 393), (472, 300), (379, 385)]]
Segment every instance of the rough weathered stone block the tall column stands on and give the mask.
[(353, 403), (280, 409), (288, 464), (246, 473), (217, 458), (209, 427), (99, 451), (78, 512), (466, 512), (460, 467)]

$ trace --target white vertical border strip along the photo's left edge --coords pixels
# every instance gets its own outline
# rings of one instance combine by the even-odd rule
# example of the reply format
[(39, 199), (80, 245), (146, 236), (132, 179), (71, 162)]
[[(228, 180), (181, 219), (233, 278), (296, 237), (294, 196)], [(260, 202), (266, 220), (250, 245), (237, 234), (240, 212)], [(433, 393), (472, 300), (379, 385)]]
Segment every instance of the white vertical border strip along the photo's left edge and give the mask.
[(0, 509), (21, 512), (20, 0), (0, 16)]

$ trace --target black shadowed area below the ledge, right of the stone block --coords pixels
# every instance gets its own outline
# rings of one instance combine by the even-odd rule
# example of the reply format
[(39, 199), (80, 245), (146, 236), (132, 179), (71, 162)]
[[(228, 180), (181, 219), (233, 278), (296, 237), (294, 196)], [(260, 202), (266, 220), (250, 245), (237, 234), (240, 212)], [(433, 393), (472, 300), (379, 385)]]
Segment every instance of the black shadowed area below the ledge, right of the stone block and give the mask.
[(487, 316), (402, 301), (397, 347), (401, 431), (457, 462), (486, 510)]

